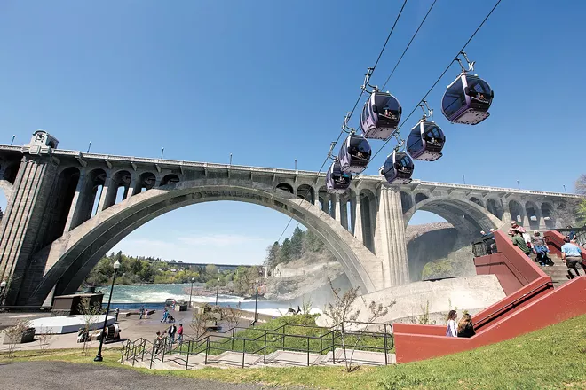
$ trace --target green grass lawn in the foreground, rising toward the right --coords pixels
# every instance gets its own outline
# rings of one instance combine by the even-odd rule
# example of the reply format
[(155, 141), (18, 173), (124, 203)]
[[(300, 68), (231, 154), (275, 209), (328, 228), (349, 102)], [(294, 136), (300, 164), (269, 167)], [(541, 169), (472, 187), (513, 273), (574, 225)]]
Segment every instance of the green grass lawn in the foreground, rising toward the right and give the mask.
[[(93, 355), (83, 356), (78, 350), (47, 355), (25, 352), (12, 360), (98, 364), (91, 362)], [(115, 362), (119, 358), (120, 352), (108, 350), (100, 364), (120, 366)], [(0, 363), (10, 360), (0, 355)], [(586, 316), (473, 351), (350, 373), (339, 367), (140, 370), (153, 375), (321, 389), (586, 389)]]

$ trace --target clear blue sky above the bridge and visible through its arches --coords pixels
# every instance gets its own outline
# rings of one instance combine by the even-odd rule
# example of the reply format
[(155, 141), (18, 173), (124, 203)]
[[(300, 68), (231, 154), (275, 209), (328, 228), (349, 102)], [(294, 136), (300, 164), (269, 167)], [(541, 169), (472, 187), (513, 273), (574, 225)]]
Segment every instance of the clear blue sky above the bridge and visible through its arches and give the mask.
[[(60, 147), (317, 170), (360, 92), (402, 1), (17, 2), (0, 4), (0, 143), (46, 129)], [(409, 0), (372, 82), (384, 83), (431, 0)], [(440, 0), (387, 89), (409, 113), (495, 1)], [(440, 113), (451, 72), (428, 100), (444, 157), (415, 177), (563, 191), (583, 173), (582, 2), (503, 0), (467, 48), (495, 90), (478, 126)], [(418, 116), (418, 115), (417, 115)], [(404, 127), (416, 123), (412, 117)], [(352, 117), (356, 124), (359, 115)], [(405, 134), (405, 133), (404, 133)], [(382, 145), (372, 141), (376, 151)], [(375, 175), (392, 151), (370, 163)], [(553, 153), (560, 153), (553, 157)], [(4, 194), (0, 207), (5, 206)], [(436, 220), (417, 213), (413, 222)], [(149, 222), (118, 246), (193, 261), (260, 262), (289, 221), (218, 202)], [(290, 230), (295, 227), (292, 223)], [(190, 257), (190, 259), (186, 259)]]

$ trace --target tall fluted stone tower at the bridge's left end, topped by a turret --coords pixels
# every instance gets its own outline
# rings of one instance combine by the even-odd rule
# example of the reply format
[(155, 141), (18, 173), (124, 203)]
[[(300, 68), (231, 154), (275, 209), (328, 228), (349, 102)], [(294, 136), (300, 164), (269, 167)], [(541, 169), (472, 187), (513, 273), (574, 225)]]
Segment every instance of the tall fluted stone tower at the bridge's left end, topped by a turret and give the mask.
[[(51, 223), (51, 191), (57, 176), (59, 160), (51, 156), (59, 141), (43, 130), (37, 130), (26, 153), (8, 198), (5, 217), (0, 222), (0, 279), (7, 285), (4, 305), (18, 305), (27, 297), (19, 292), (38, 283), (44, 264), (36, 264), (32, 256), (48, 244)], [(24, 287), (24, 288), (23, 288)]]

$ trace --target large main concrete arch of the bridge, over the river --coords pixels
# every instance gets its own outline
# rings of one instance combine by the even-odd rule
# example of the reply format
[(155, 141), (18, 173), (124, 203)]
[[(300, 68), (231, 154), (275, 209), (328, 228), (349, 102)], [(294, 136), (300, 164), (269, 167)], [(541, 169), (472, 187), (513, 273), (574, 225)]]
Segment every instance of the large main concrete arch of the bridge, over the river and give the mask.
[(115, 244), (144, 223), (180, 207), (218, 200), (235, 200), (269, 207), (313, 230), (342, 264), (352, 285), (362, 292), (383, 288), (382, 263), (328, 214), (289, 191), (264, 183), (236, 179), (197, 179), (153, 188), (108, 207), (65, 233), (36, 257), (46, 262), (43, 280), (28, 303), (40, 305), (55, 293), (70, 293)]

